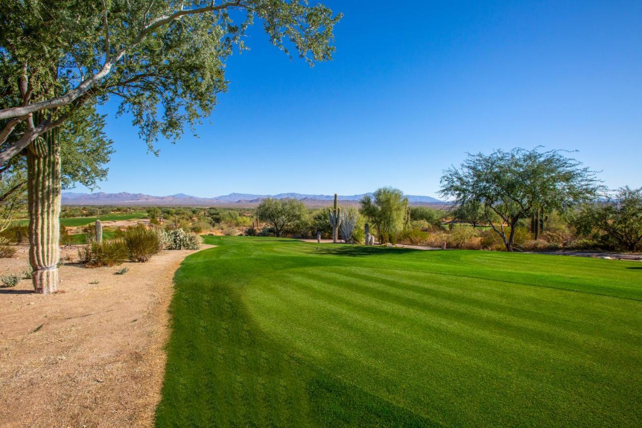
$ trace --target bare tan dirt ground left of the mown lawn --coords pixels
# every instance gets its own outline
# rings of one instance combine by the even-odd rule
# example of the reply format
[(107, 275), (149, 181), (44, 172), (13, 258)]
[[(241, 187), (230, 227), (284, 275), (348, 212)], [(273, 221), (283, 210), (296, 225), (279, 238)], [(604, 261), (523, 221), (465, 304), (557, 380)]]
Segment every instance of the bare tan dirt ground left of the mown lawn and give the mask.
[[(0, 274), (28, 267), (26, 251), (0, 259)], [(152, 425), (172, 278), (194, 252), (164, 251), (117, 267), (65, 265), (64, 292), (50, 296), (33, 294), (31, 280), (0, 289), (0, 425)], [(114, 274), (123, 267), (129, 271)]]

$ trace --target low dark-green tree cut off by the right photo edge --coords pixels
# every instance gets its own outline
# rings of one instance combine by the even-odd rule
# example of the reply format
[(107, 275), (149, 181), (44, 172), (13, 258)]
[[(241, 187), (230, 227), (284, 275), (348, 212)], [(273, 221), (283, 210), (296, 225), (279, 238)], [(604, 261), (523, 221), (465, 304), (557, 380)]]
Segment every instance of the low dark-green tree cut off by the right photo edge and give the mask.
[(642, 188), (625, 186), (607, 201), (584, 204), (575, 225), (585, 235), (599, 229), (627, 251), (642, 248)]

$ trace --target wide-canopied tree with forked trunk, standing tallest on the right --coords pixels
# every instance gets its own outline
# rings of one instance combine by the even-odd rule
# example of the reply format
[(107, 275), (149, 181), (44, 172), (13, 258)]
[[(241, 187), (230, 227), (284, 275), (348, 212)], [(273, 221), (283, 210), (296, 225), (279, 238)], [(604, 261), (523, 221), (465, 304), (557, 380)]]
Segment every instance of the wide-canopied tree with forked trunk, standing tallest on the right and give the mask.
[[(515, 227), (533, 210), (566, 210), (595, 197), (595, 173), (559, 150), (514, 148), (490, 155), (469, 154), (460, 168), (444, 171), (440, 195), (461, 205), (478, 202), (485, 220), (513, 251)], [(494, 219), (493, 214), (499, 217)]]

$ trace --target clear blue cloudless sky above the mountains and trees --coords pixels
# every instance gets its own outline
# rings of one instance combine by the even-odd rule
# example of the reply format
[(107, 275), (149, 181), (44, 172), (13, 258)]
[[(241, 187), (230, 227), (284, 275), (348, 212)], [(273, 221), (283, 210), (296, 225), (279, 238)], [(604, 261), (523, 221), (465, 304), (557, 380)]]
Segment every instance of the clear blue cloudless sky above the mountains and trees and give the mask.
[(324, 3), (345, 14), (333, 62), (290, 61), (257, 27), (200, 138), (155, 157), (105, 105), (101, 190), (435, 195), (465, 152), (537, 145), (642, 186), (641, 1)]

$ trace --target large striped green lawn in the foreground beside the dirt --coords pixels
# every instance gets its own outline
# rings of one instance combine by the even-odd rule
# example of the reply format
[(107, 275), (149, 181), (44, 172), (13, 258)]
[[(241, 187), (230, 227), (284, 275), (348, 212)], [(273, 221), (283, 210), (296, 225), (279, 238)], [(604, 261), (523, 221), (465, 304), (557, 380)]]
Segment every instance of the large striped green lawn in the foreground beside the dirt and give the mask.
[(205, 242), (159, 426), (642, 425), (642, 263)]

